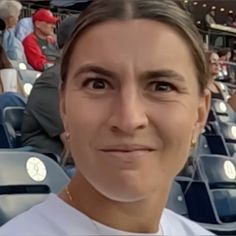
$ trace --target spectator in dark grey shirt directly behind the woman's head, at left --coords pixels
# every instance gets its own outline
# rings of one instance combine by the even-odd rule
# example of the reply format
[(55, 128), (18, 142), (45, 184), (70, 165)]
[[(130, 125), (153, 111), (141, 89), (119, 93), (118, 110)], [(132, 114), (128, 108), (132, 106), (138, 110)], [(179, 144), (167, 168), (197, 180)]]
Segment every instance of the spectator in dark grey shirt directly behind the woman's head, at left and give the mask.
[[(58, 46), (62, 49), (76, 24), (77, 16), (65, 19), (58, 28)], [(22, 125), (23, 145), (42, 153), (63, 156), (65, 132), (59, 112), (60, 63), (45, 70), (28, 98)]]

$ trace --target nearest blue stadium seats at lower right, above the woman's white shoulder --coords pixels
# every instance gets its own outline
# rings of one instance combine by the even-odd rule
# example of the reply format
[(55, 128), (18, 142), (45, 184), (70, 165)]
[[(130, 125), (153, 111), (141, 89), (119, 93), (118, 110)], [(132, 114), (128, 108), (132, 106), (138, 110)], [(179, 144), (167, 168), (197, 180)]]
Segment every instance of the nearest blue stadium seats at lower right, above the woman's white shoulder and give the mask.
[(192, 176), (177, 176), (167, 207), (217, 235), (236, 234), (236, 160), (203, 155)]

